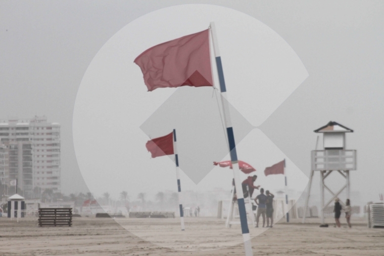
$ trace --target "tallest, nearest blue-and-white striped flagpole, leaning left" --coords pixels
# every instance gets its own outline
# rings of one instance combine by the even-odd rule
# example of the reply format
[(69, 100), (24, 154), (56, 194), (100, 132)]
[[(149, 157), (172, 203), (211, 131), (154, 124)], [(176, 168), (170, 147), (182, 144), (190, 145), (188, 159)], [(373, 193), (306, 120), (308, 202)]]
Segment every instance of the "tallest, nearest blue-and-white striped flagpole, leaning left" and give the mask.
[(228, 144), (229, 144), (228, 146), (229, 146), (229, 153), (230, 153), (231, 163), (232, 163), (234, 184), (237, 191), (236, 196), (237, 196), (238, 212), (240, 215), (240, 223), (242, 226), (244, 248), (246, 251), (246, 256), (252, 256), (253, 252), (252, 252), (251, 236), (249, 234), (249, 229), (248, 229), (247, 212), (246, 212), (246, 206), (245, 206), (244, 197), (243, 197), (243, 187), (240, 180), (240, 172), (238, 168), (238, 160), (237, 160), (237, 153), (236, 153), (236, 144), (234, 142), (234, 135), (233, 135), (231, 118), (230, 118), (229, 106), (227, 101), (223, 100), (223, 98), (225, 99), (227, 98), (226, 96), (227, 90), (225, 88), (224, 73), (223, 73), (223, 67), (221, 65), (221, 57), (220, 57), (214, 22), (211, 22), (210, 24), (210, 31), (212, 35), (213, 49), (215, 52), (217, 73), (219, 76), (221, 105), (223, 108), (222, 110), (224, 114), (224, 122), (225, 122), (227, 137), (228, 137)]

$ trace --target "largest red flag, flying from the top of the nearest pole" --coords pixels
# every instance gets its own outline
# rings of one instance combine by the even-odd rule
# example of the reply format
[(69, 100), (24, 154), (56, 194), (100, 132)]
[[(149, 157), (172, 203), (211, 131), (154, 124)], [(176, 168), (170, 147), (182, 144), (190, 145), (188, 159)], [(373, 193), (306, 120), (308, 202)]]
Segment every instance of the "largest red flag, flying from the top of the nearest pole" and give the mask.
[(133, 62), (140, 67), (148, 91), (213, 85), (208, 29), (155, 45)]

